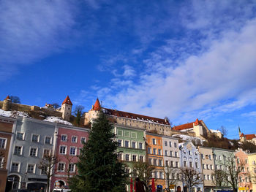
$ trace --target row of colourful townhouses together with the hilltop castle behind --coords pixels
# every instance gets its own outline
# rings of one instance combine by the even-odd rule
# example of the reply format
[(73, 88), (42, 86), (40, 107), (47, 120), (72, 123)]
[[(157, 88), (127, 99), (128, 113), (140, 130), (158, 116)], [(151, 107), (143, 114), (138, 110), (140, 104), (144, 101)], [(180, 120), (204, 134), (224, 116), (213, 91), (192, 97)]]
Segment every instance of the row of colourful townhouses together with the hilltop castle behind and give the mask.
[[(170, 177), (176, 178), (176, 183), (168, 186), (165, 172), (167, 167), (192, 167), (203, 178), (193, 190), (214, 191), (218, 188), (214, 185), (212, 173), (216, 169), (225, 170), (225, 161), (236, 156), (245, 163), (239, 176), (239, 191), (256, 191), (253, 179), (256, 153), (241, 149), (195, 147), (189, 140), (181, 142), (183, 136), (200, 142), (207, 134), (220, 134), (208, 130), (203, 120), (171, 127), (166, 118), (110, 110), (101, 107), (97, 99), (91, 110), (83, 114), (81, 125), (72, 126), (69, 123), (72, 120), (72, 102), (68, 96), (59, 109), (53, 109), (49, 104), (45, 107), (12, 104), (8, 97), (0, 101), (0, 107), (0, 152), (3, 154), (0, 158), (0, 191), (4, 191), (5, 187), (6, 191), (13, 188), (28, 188), (31, 191), (45, 188), (47, 177), (44, 170), (39, 169), (39, 161), (47, 154), (54, 154), (59, 159), (53, 169), (50, 188), (68, 185), (68, 175), (77, 172), (75, 163), (80, 148), (89, 139), (90, 125), (100, 110), (113, 123), (120, 152), (118, 158), (127, 164), (131, 177), (135, 162), (148, 162), (154, 166), (152, 177), (156, 179), (159, 189), (170, 187), (172, 191), (185, 192), (187, 186), (180, 175), (173, 172)], [(227, 185), (219, 189), (231, 188)]]

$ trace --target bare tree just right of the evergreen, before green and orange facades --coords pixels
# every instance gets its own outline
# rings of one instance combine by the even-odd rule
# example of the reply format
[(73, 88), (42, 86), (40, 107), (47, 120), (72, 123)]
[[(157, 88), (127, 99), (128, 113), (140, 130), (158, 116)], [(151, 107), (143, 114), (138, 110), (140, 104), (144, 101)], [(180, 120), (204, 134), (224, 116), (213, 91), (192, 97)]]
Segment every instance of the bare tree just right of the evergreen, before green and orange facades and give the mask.
[(133, 163), (132, 174), (135, 177), (139, 177), (140, 180), (145, 182), (146, 185), (148, 186), (152, 177), (153, 170), (154, 170), (154, 166), (152, 166), (151, 164), (148, 164), (148, 162), (139, 161), (139, 162)]

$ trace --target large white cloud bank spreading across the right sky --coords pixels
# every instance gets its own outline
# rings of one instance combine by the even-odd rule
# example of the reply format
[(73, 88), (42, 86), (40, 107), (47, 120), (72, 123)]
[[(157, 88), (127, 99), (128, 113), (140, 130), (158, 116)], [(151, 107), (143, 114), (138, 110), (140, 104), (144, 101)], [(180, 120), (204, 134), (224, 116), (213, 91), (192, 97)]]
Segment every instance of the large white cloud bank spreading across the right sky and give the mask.
[[(160, 47), (152, 53), (151, 63), (159, 69), (141, 75), (138, 84), (108, 99), (120, 110), (167, 115), (181, 123), (199, 114), (203, 117), (198, 118), (207, 118), (252, 104), (256, 99), (255, 34), (256, 20), (250, 20), (238, 31), (227, 29), (219, 39), (206, 39), (207, 49), (180, 60), (161, 55), (166, 50)], [(170, 66), (174, 61), (178, 65)]]

